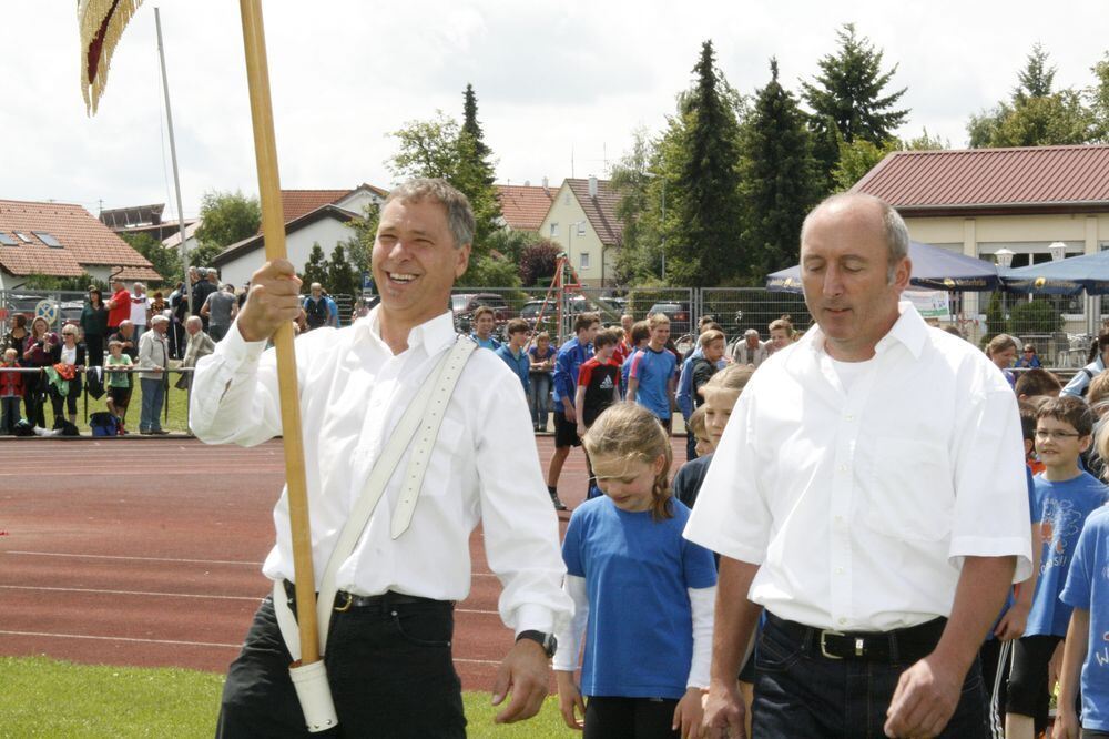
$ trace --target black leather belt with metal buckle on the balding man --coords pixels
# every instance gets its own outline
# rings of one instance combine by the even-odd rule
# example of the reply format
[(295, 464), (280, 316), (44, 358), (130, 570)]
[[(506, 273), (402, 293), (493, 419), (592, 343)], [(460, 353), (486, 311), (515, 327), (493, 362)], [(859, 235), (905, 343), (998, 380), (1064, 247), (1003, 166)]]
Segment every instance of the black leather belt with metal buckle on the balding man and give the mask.
[(766, 611), (766, 626), (800, 644), (805, 652), (825, 659), (915, 662), (935, 650), (947, 619), (934, 618), (918, 626), (892, 631), (836, 631), (787, 621)]

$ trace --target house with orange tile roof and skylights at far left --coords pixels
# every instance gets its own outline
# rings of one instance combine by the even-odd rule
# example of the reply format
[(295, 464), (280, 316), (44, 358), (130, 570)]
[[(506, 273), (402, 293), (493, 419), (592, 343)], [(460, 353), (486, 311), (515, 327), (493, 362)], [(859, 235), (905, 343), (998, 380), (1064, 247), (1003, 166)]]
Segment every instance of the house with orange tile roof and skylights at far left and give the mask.
[(32, 274), (161, 282), (142, 254), (80, 205), (0, 200), (0, 290)]

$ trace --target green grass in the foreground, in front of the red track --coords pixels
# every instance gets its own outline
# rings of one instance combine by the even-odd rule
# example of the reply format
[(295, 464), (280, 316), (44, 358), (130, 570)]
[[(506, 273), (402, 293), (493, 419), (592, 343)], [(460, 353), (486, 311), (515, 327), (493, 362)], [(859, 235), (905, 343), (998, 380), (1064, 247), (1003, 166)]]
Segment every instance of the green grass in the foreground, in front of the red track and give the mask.
[[(215, 733), (223, 676), (176, 668), (88, 666), (45, 657), (0, 657), (0, 737), (203, 737)], [(476, 738), (572, 737), (548, 698), (518, 726), (497, 726), (489, 694), (464, 694)]]

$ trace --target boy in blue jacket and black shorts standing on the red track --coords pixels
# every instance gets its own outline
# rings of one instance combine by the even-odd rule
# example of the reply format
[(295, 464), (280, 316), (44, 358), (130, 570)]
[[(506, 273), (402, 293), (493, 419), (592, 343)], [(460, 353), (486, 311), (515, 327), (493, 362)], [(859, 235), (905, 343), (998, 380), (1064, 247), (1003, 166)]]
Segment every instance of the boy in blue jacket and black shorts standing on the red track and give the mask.
[[(570, 456), (570, 449), (581, 446), (578, 438), (578, 416), (573, 407), (573, 396), (578, 391), (578, 370), (593, 356), (593, 336), (601, 327), (601, 317), (596, 313), (581, 313), (573, 321), (574, 336), (562, 344), (554, 360), (554, 454), (547, 470), (547, 490), (556, 510), (566, 510), (566, 504), (558, 497), (558, 478), (562, 465)], [(587, 490), (588, 495), (589, 492)]]

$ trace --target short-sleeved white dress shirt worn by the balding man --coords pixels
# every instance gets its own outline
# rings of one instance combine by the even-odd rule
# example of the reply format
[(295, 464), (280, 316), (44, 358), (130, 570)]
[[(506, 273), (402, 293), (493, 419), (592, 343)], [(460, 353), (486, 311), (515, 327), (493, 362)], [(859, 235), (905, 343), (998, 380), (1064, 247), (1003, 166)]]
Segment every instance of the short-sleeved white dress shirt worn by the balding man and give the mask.
[(685, 536), (760, 565), (749, 597), (817, 628), (948, 616), (967, 556), (1031, 573), (1020, 418), (971, 344), (909, 303), (844, 389), (820, 328), (740, 395)]

